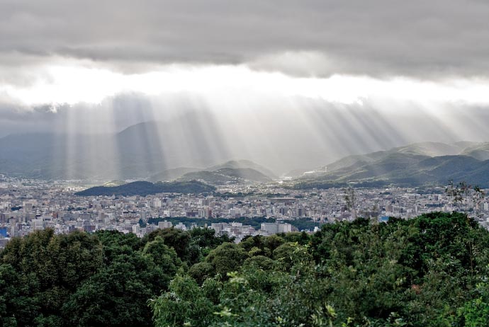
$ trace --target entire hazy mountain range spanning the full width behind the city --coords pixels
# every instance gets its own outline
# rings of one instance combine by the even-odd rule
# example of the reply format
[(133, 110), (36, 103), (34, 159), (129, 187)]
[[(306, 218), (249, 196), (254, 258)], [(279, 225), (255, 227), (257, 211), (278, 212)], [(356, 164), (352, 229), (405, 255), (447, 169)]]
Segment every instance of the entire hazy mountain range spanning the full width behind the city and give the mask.
[[(269, 183), (276, 180), (271, 171), (250, 160), (232, 160), (245, 147), (265, 151), (246, 139), (240, 142), (212, 128), (206, 115), (179, 120), (179, 124), (145, 122), (115, 134), (82, 135), (33, 133), (0, 138), (0, 173), (45, 179), (89, 180), (200, 180), (212, 185)], [(254, 135), (250, 139), (254, 139)], [(297, 166), (290, 144), (271, 149), (266, 166)], [(233, 149), (231, 151), (230, 149)], [(305, 167), (286, 174), (301, 188), (312, 185), (420, 185), (446, 184), (466, 180), (489, 185), (489, 142), (421, 142), (385, 151), (344, 156), (327, 164), (327, 153), (312, 147)], [(245, 152), (243, 152), (245, 154)], [(265, 157), (264, 157), (265, 158)], [(225, 163), (225, 164), (222, 164)]]

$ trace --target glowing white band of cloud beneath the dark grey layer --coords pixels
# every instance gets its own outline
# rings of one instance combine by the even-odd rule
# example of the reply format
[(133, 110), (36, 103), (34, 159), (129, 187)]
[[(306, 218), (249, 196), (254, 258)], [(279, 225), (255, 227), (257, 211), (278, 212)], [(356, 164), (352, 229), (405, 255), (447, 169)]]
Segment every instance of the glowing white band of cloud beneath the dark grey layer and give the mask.
[[(317, 61), (315, 55), (305, 54), (305, 62)], [(284, 57), (284, 60), (293, 55)], [(267, 71), (262, 66), (271, 63), (277, 70)], [(179, 94), (206, 98), (208, 101), (228, 101), (235, 107), (240, 98), (263, 101), (266, 98), (290, 97), (322, 98), (331, 103), (361, 103), (366, 99), (423, 103), (489, 104), (489, 79), (450, 79), (422, 81), (405, 77), (375, 79), (371, 76), (332, 75), (323, 77), (291, 76), (303, 68), (299, 59), (294, 65), (271, 62), (265, 58), (256, 66), (169, 64), (141, 74), (123, 74), (101, 67), (97, 63), (76, 59), (57, 64), (33, 67), (28, 71), (25, 86), (0, 83), (0, 100), (6, 99), (21, 106), (100, 104), (106, 99), (126, 93), (137, 93), (149, 98), (172, 97)], [(328, 69), (325, 67), (325, 69)], [(287, 74), (287, 72), (289, 74)], [(22, 72), (18, 72), (22, 76)], [(16, 81), (22, 81), (18, 77)], [(5, 100), (4, 100), (5, 102)]]

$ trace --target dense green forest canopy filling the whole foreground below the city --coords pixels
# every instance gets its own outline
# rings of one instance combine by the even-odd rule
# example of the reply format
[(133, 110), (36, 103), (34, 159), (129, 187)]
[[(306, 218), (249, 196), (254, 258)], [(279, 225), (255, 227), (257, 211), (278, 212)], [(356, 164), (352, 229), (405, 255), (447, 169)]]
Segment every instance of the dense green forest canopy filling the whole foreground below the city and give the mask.
[(0, 253), (0, 326), (488, 326), (489, 232), (356, 219), (235, 244), (212, 229), (51, 229)]

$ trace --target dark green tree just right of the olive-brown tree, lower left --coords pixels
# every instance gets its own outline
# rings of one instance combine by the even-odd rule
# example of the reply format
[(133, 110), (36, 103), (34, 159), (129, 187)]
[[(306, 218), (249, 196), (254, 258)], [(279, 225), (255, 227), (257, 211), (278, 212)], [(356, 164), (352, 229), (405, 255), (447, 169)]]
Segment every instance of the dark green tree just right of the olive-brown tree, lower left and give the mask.
[(151, 326), (147, 300), (167, 280), (150, 256), (121, 254), (78, 287), (62, 312), (70, 326)]

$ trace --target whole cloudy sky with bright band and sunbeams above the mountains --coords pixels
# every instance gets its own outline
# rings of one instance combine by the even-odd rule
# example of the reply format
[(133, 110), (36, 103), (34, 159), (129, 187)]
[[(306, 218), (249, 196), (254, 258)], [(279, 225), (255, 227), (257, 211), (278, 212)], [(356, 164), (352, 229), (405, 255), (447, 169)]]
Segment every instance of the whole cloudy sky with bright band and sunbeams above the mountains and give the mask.
[(0, 136), (205, 112), (260, 153), (309, 130), (291, 151), (325, 160), (488, 141), (488, 17), (483, 0), (1, 0)]

